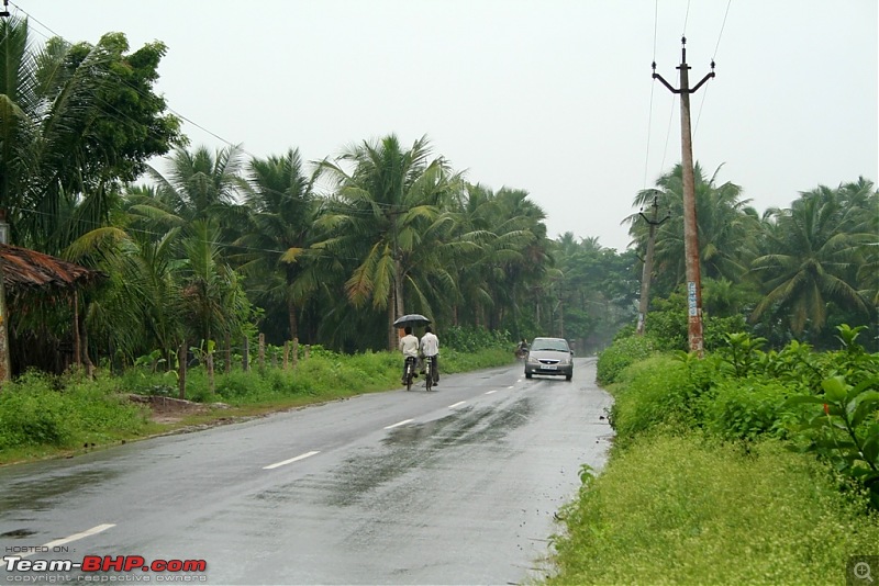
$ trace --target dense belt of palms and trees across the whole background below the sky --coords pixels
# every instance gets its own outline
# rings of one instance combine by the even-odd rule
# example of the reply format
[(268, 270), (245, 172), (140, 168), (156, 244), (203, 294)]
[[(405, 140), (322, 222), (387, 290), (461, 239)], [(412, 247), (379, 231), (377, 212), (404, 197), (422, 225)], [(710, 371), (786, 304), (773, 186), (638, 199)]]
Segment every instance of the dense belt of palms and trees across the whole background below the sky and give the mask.
[[(403, 313), (450, 337), (564, 336), (585, 356), (635, 322), (647, 238), (637, 214), (623, 252), (552, 239), (531, 194), (466, 179), (426, 137), (389, 134), (310, 162), (296, 148), (190, 149), (154, 92), (160, 43), (130, 53), (114, 33), (37, 47), (26, 21), (0, 25), (0, 205), (12, 241), (105, 275), (76, 297), (12, 300), (16, 372), (58, 370), (58, 347), (67, 363), (118, 370), (155, 351), (171, 368), (181, 347), (205, 349), (197, 358), (210, 363), (257, 331), (275, 345), (389, 349)], [(147, 166), (156, 155), (167, 157)], [(861, 343), (875, 349), (874, 184), (819, 185), (759, 217), (716, 176), (697, 168), (706, 348), (725, 331), (827, 348), (848, 323), (872, 327)], [(650, 201), (669, 221), (656, 233), (647, 334), (686, 349), (680, 166), (635, 196)]]

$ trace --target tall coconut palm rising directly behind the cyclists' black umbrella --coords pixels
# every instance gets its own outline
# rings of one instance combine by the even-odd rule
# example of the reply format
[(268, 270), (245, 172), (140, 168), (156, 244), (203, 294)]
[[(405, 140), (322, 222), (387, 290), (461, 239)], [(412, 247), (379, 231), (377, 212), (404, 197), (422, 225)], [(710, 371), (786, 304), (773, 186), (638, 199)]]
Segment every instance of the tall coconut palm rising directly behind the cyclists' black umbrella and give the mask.
[(355, 307), (386, 309), (388, 347), (397, 345), (393, 320), (405, 313), (407, 285), (435, 270), (425, 258), (426, 232), (441, 215), (441, 202), (454, 190), (455, 176), (442, 157), (431, 159), (426, 137), (403, 149), (396, 135), (355, 145), (335, 161), (319, 164), (334, 192), (318, 226), (327, 236), (315, 250), (356, 259), (344, 292)]

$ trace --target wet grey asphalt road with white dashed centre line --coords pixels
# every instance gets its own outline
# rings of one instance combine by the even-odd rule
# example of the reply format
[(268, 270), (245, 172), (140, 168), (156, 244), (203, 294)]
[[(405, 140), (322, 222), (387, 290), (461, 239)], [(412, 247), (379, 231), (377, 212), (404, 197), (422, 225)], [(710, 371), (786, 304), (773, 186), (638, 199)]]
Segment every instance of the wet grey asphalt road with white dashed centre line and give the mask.
[[(204, 560), (186, 577), (208, 584), (519, 584), (543, 575), (580, 464), (603, 465), (610, 404), (593, 358), (572, 382), (516, 364), (5, 466), (0, 551)], [(0, 584), (111, 576), (169, 577), (7, 564)]]

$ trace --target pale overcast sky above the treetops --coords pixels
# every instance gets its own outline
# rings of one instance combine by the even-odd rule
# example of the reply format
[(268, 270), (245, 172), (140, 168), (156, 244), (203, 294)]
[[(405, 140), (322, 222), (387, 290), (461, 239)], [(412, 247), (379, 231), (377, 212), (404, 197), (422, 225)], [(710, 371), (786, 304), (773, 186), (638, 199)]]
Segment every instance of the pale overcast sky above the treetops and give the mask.
[[(11, 0), (34, 41), (168, 46), (157, 90), (192, 146), (305, 160), (396, 133), (494, 190), (549, 236), (628, 244), (638, 190), (680, 160), (686, 34), (694, 158), (763, 212), (879, 179), (877, 0)], [(728, 8), (728, 10), (727, 10)]]

